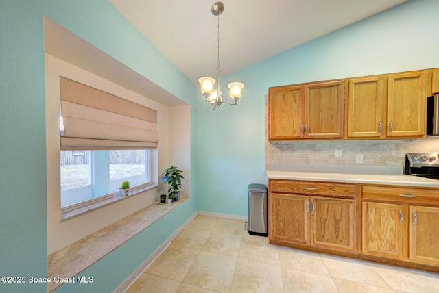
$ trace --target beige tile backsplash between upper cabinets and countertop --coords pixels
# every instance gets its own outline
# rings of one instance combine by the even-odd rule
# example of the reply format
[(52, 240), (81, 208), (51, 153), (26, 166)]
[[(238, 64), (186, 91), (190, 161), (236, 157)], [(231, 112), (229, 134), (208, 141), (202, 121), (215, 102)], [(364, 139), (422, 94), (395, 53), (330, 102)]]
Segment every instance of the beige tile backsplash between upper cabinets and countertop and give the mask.
[[(342, 157), (336, 158), (335, 151)], [(269, 142), (265, 140), (265, 166), (281, 170), (343, 170), (368, 168), (372, 173), (402, 173), (405, 153), (438, 152), (439, 138), (415, 140), (313, 140)], [(356, 156), (363, 156), (363, 163)], [(376, 172), (375, 172), (376, 171)]]

